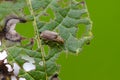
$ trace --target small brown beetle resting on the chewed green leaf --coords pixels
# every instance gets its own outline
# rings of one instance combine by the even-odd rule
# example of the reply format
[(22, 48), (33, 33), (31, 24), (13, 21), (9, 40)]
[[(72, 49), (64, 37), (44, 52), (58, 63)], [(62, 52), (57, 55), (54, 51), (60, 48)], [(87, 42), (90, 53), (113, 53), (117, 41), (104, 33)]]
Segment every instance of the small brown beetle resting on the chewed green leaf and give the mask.
[(58, 35), (58, 33), (53, 32), (53, 31), (45, 30), (45, 31), (41, 32), (40, 37), (43, 40), (64, 43), (64, 40)]

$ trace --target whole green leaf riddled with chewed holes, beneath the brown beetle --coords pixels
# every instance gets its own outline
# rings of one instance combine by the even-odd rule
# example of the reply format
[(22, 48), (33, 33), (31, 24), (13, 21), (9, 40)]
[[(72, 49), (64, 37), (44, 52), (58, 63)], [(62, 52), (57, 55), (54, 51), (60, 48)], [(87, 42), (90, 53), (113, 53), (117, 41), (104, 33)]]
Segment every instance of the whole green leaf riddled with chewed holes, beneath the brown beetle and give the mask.
[[(27, 22), (33, 22), (35, 36), (31, 41), (27, 40), (30, 44), (25, 45), (25, 42), (25, 46), (20, 44), (8, 47), (6, 41), (14, 44), (16, 42), (1, 39), (5, 27), (4, 19), (8, 15), (17, 15), (25, 18)], [(0, 50), (7, 51), (6, 59), (10, 65), (19, 66), (18, 74), (11, 75), (17, 80), (53, 80), (54, 75), (59, 74), (60, 67), (56, 60), (61, 52), (78, 54), (93, 37), (92, 22), (85, 0), (2, 0), (0, 20)], [(81, 31), (83, 27), (84, 31)], [(44, 31), (57, 34), (57, 38), (62, 41), (51, 39), (51, 36), (48, 36), (50, 40), (43, 39), (41, 34)], [(22, 40), (17, 43), (21, 42)]]

